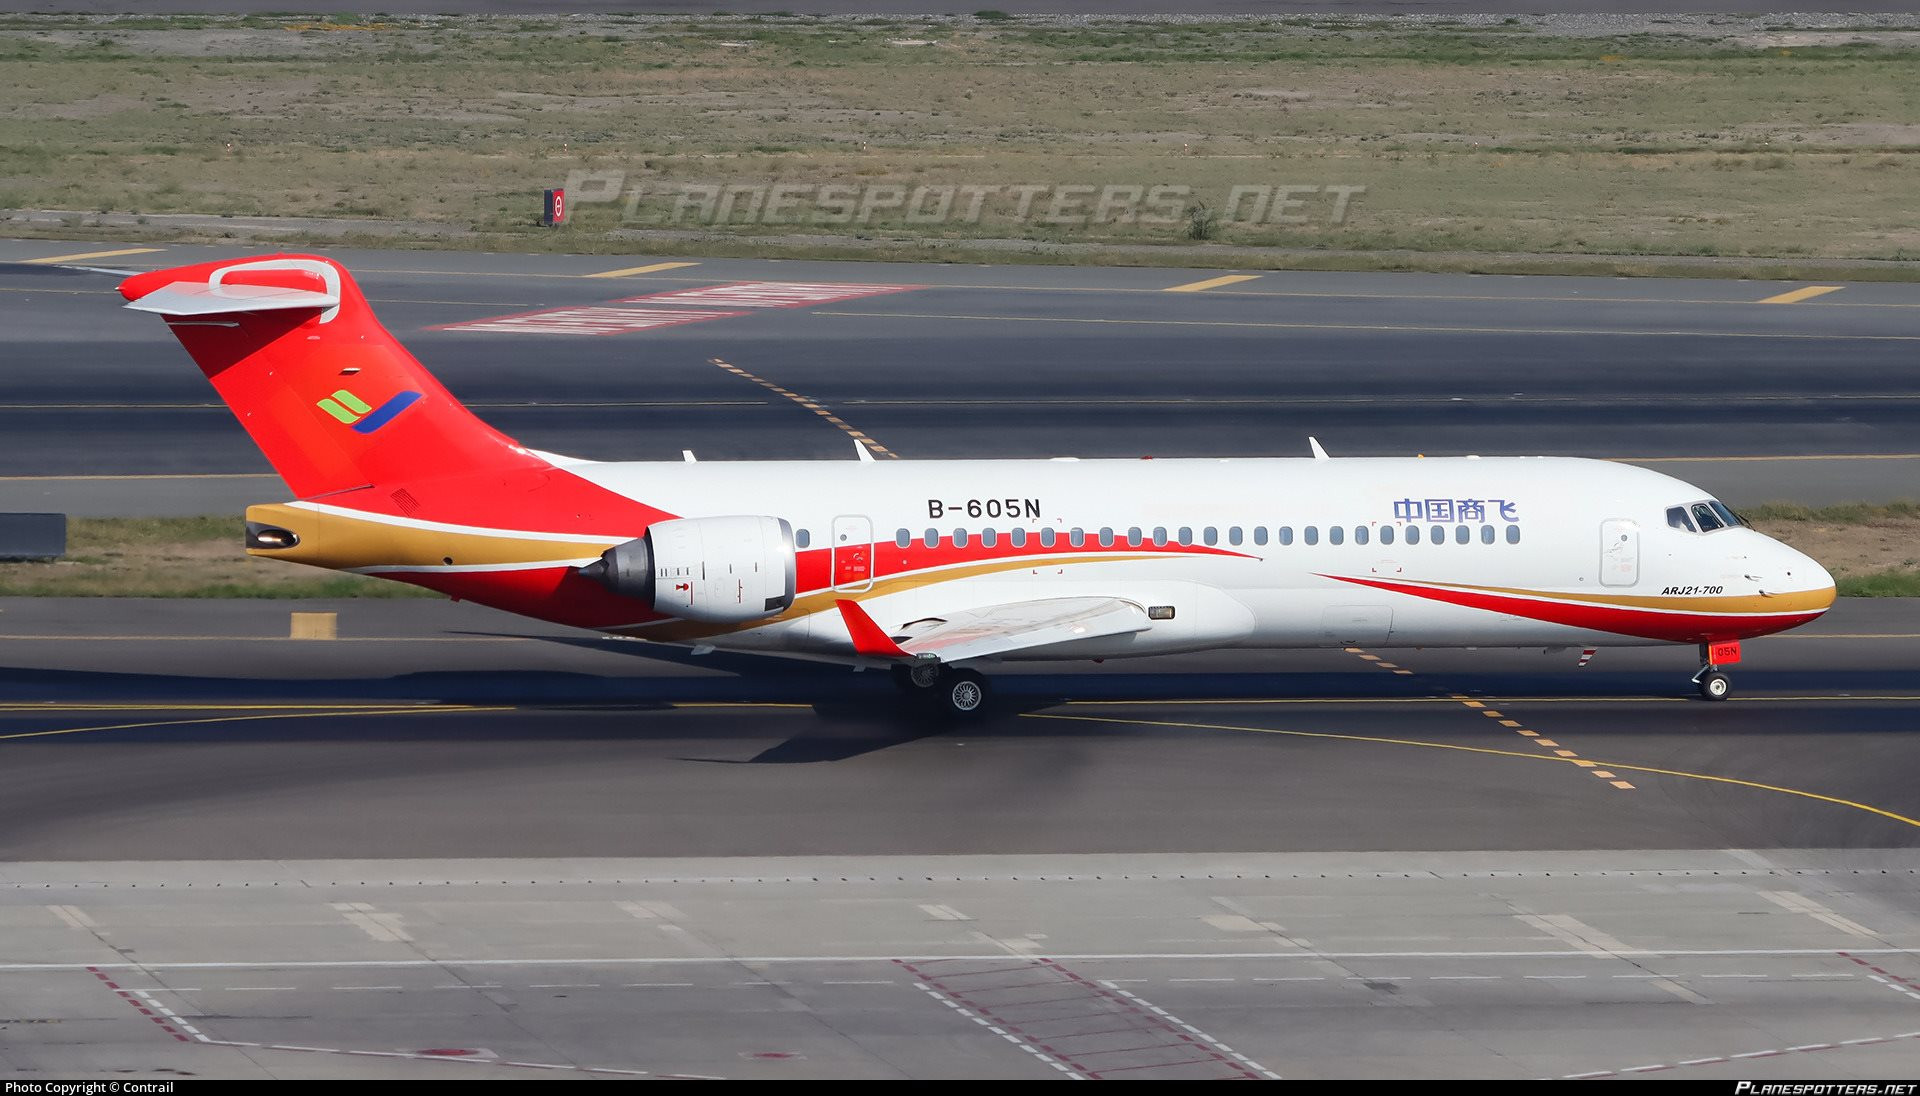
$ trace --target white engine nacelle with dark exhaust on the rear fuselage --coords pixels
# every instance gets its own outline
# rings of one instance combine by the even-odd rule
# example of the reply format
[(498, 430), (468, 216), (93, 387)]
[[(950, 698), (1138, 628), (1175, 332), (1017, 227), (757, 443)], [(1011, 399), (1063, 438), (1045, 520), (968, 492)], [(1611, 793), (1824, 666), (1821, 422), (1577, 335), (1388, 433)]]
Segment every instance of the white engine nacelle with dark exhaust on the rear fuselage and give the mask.
[(580, 574), (657, 612), (710, 624), (762, 620), (793, 605), (793, 526), (781, 518), (672, 518), (614, 545)]

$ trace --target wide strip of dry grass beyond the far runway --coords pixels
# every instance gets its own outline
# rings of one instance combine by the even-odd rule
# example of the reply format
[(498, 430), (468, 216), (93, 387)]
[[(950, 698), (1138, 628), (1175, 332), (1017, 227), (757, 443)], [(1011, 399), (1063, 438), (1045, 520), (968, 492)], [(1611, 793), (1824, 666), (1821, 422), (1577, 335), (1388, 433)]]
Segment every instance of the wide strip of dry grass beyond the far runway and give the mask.
[[(1920, 50), (1263, 21), (0, 23), (0, 207), (380, 217), (564, 244), (630, 182), (1365, 186), (1308, 248), (1920, 255)], [(307, 29), (294, 29), (307, 27)], [(340, 25), (330, 25), (340, 27)], [(547, 29), (541, 29), (547, 27)], [(927, 44), (899, 44), (927, 42)], [(876, 234), (1187, 242), (1185, 225)], [(770, 230), (770, 228), (760, 228)], [(781, 226), (780, 230), (793, 230)], [(753, 228), (741, 228), (753, 234)]]

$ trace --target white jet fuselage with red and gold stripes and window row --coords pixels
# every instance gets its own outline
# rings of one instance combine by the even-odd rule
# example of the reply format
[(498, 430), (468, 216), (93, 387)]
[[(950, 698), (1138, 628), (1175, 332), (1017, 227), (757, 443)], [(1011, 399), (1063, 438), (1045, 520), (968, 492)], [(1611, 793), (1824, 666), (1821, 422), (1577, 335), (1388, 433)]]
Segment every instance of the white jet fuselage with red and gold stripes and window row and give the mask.
[[(561, 582), (645, 532), (618, 520), (574, 528), (559, 547), (522, 547), (492, 566), (478, 557), (382, 566), (361, 555), (353, 570), (643, 639), (851, 660), (858, 658), (833, 610), (841, 599), (895, 631), (1056, 597), (1164, 610), (1144, 631), (1012, 658), (1709, 643), (1805, 624), (1834, 601), (1832, 578), (1803, 553), (1745, 526), (1703, 528), (1692, 514), (1711, 505), (1705, 491), (1605, 461), (555, 459), (555, 472), (680, 518), (783, 518), (795, 541), (793, 605), (722, 626), (643, 612)], [(1684, 522), (1672, 520), (1676, 509)], [(528, 526), (520, 545), (538, 534)], [(497, 585), (501, 595), (490, 595)]]

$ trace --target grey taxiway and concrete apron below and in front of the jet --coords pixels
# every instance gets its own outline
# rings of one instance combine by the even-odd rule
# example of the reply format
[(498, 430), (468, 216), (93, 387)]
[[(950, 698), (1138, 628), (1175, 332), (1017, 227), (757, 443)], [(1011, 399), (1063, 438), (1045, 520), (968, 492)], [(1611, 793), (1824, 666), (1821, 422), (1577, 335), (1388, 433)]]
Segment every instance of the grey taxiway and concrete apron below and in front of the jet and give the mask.
[[(1901, 1077), (1912, 607), (1002, 674), (0, 603), (21, 1077)], [(1396, 670), (1409, 670), (1398, 674)], [(179, 1075), (171, 1073), (171, 1075)]]

